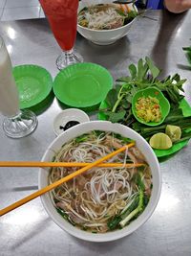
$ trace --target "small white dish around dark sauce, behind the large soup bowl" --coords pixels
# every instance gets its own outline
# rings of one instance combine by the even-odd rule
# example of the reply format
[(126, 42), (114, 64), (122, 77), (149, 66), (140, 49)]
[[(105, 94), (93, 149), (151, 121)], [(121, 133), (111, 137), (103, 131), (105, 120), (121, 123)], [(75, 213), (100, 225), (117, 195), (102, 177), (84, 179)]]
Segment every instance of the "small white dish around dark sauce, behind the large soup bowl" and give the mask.
[(75, 121), (79, 124), (89, 122), (89, 116), (77, 108), (68, 108), (60, 112), (53, 120), (53, 131), (56, 136), (61, 134), (68, 122)]

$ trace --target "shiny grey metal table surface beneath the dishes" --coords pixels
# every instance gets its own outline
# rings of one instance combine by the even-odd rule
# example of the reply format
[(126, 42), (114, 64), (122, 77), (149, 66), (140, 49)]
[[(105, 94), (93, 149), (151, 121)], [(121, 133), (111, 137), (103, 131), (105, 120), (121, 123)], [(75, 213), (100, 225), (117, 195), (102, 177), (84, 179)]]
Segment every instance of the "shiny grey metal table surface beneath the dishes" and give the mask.
[[(110, 46), (97, 46), (77, 36), (75, 48), (85, 61), (108, 68), (114, 78), (125, 75), (131, 62), (150, 56), (165, 74), (178, 72), (188, 81), (186, 98), (191, 103), (191, 72), (181, 49), (190, 45), (191, 12), (173, 15), (148, 12), (138, 18), (128, 36)], [(60, 53), (45, 19), (0, 23), (13, 65), (33, 63), (57, 73), (55, 58)], [(38, 115), (32, 135), (13, 140), (0, 126), (0, 160), (38, 161), (53, 141), (53, 117), (60, 106), (53, 100)], [(95, 116), (92, 116), (94, 119)], [(2, 123), (3, 117), (0, 117)], [(191, 255), (191, 147), (160, 164), (162, 191), (152, 217), (132, 235), (112, 243), (84, 242), (61, 230), (48, 217), (40, 198), (0, 218), (0, 255)], [(0, 208), (37, 189), (38, 169), (0, 169)]]

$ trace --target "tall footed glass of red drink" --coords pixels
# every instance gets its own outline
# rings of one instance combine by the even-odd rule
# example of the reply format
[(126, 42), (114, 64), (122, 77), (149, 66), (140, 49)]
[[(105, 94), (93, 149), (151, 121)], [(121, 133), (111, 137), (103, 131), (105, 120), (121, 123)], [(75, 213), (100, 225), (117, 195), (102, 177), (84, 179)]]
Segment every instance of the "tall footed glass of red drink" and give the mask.
[(74, 51), (77, 27), (78, 0), (40, 0), (49, 20), (53, 35), (63, 50), (56, 60), (58, 69), (82, 62), (83, 58)]

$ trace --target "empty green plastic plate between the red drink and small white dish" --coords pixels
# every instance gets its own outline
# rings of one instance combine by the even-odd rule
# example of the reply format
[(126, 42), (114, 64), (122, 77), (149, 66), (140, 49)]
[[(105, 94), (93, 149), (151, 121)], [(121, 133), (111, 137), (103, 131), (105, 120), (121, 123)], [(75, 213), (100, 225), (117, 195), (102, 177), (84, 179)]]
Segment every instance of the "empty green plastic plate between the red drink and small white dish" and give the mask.
[(53, 92), (65, 105), (90, 107), (100, 104), (112, 86), (113, 78), (104, 67), (77, 63), (58, 73), (53, 81)]

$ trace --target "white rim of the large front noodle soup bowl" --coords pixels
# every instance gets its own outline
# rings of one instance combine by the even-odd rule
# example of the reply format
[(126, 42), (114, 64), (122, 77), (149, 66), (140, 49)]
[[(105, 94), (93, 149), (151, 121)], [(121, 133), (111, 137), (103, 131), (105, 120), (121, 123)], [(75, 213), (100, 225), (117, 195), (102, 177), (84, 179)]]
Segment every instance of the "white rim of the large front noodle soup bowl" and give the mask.
[[(98, 124), (98, 125), (97, 125)], [(99, 124), (103, 124), (103, 126), (105, 125), (105, 128), (91, 128), (92, 126), (99, 126)], [(80, 127), (83, 129), (83, 127), (87, 127), (89, 131), (91, 130), (96, 130), (96, 129), (100, 129), (100, 130), (109, 130), (108, 127), (110, 127), (110, 129), (114, 126), (114, 129), (119, 127), (124, 127), (127, 128), (123, 125), (120, 124), (112, 124), (111, 122), (108, 121), (92, 121), (92, 122), (88, 122), (88, 123), (82, 123), (74, 128), (70, 128), (60, 134), (58, 137), (56, 137), (53, 142), (51, 143), (51, 145), (48, 147), (47, 151), (45, 151), (42, 160), (41, 161), (45, 161), (46, 158), (49, 156), (51, 157), (49, 154), (52, 151), (53, 153), (53, 145), (56, 145), (56, 143), (61, 143), (61, 137), (65, 137), (65, 143), (67, 141), (70, 141), (72, 138), (68, 139), (67, 137), (67, 133), (69, 133), (70, 135), (73, 133), (76, 133), (75, 130), (77, 131), (77, 129), (79, 130)], [(102, 126), (102, 125), (101, 125)], [(74, 237), (84, 240), (84, 241), (89, 241), (89, 242), (97, 242), (97, 243), (103, 243), (103, 242), (110, 242), (110, 241), (115, 241), (117, 239), (123, 238), (127, 235), (130, 235), (131, 233), (133, 233), (135, 230), (137, 230), (145, 221), (148, 221), (148, 219), (151, 217), (151, 215), (153, 214), (154, 210), (157, 207), (157, 204), (159, 202), (159, 196), (160, 196), (160, 191), (161, 191), (161, 173), (160, 173), (160, 169), (159, 169), (159, 161), (157, 156), (155, 155), (154, 151), (151, 149), (151, 147), (149, 146), (149, 144), (144, 140), (144, 138), (142, 138), (138, 132), (136, 132), (135, 130), (131, 129), (131, 128), (127, 128), (129, 131), (131, 131), (130, 133), (134, 134), (135, 136), (137, 136), (139, 143), (141, 143), (142, 145), (144, 144), (144, 147), (146, 149), (146, 151), (149, 151), (149, 153), (151, 154), (150, 157), (147, 159), (149, 161), (151, 161), (151, 159), (153, 159), (153, 166), (155, 167), (155, 182), (158, 184), (158, 187), (154, 186), (153, 188), (153, 193), (151, 195), (151, 198), (149, 200), (148, 205), (146, 206), (145, 210), (143, 211), (143, 213), (141, 213), (140, 216), (138, 216), (138, 219), (136, 219), (135, 221), (132, 221), (129, 225), (125, 226), (124, 228), (120, 229), (120, 230), (115, 230), (112, 232), (107, 232), (104, 234), (93, 234), (93, 233), (89, 233), (87, 231), (83, 231), (78, 229), (77, 227), (74, 227), (71, 223), (69, 223), (68, 221), (65, 221), (55, 210), (55, 207), (53, 206), (53, 202), (49, 196), (49, 194), (43, 195), (41, 196), (41, 201), (42, 204), (45, 208), (45, 210), (47, 211), (48, 215), (52, 218), (52, 220), (63, 230), (65, 230), (66, 232), (68, 232), (69, 234), (73, 235)], [(79, 134), (83, 134), (87, 132), (87, 130), (84, 130), (83, 132), (79, 132), (77, 134), (75, 134), (75, 136), (73, 135), (72, 137), (76, 137)], [(114, 131), (117, 132), (117, 131)], [(64, 142), (62, 142), (62, 144), (64, 144)], [(154, 168), (153, 168), (154, 170)], [(39, 170), (39, 174), (38, 174), (38, 187), (39, 189), (43, 188), (43, 181), (45, 180), (44, 175), (47, 175), (44, 173), (45, 170), (40, 169)], [(151, 170), (152, 172), (152, 170)], [(154, 183), (154, 173), (152, 172), (153, 175), (153, 183)], [(48, 182), (46, 181), (46, 184), (48, 184)], [(155, 194), (155, 195), (154, 195)], [(153, 196), (154, 195), (154, 196)], [(152, 200), (152, 201), (151, 201)], [(52, 211), (53, 210), (53, 211)]]

